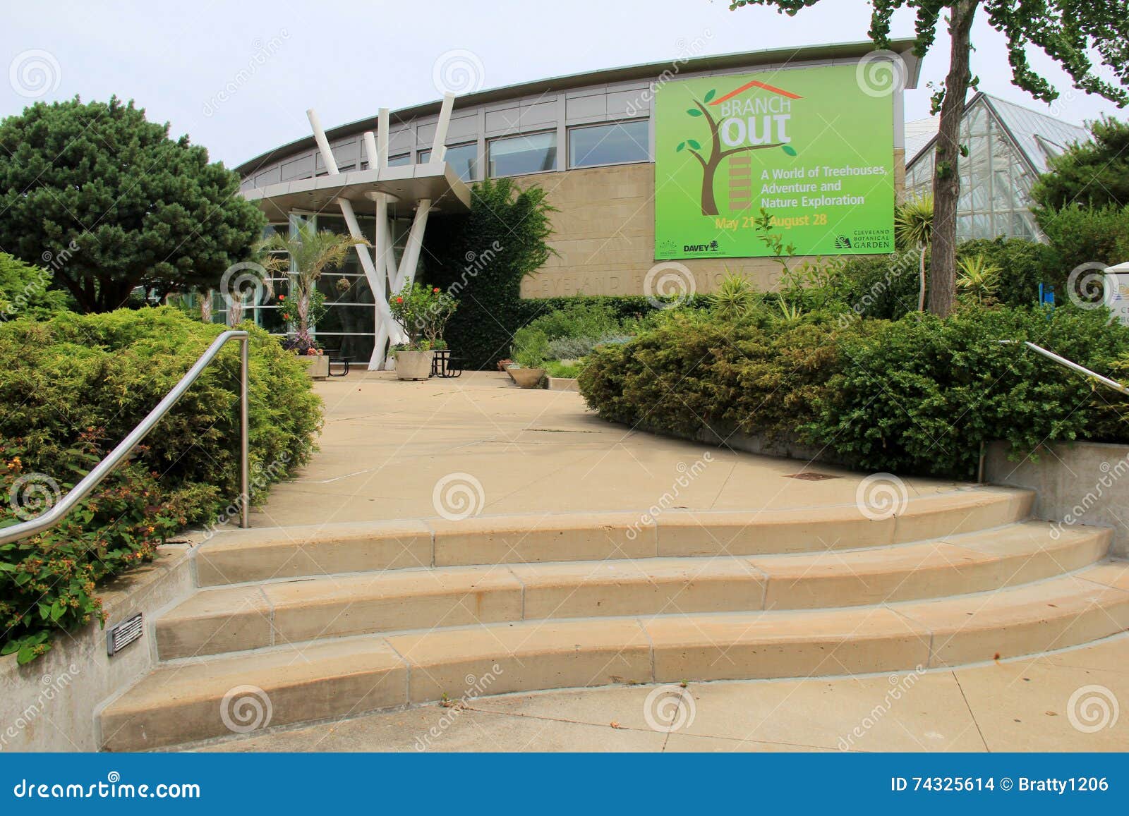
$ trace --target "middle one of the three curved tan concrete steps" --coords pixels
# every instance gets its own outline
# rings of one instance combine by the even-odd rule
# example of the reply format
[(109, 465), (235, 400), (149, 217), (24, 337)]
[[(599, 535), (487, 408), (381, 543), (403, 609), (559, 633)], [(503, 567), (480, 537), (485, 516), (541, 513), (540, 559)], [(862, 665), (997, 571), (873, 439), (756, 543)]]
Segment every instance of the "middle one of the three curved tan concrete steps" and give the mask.
[(204, 589), (156, 623), (163, 660), (504, 621), (860, 606), (997, 589), (1104, 558), (1041, 521), (869, 550), (390, 570)]

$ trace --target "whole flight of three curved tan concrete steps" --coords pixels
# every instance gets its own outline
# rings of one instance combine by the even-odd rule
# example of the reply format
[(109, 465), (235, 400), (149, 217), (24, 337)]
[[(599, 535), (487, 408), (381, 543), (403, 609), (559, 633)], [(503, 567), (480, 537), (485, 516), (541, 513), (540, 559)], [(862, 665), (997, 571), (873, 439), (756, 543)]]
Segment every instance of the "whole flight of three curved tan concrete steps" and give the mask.
[(445, 696), (935, 668), (1129, 628), (1111, 532), (1025, 520), (1032, 498), (966, 488), (881, 520), (850, 504), (225, 532), (194, 551), (196, 593), (154, 624), (157, 669), (100, 712), (102, 745), (227, 736), (240, 686), (280, 726)]

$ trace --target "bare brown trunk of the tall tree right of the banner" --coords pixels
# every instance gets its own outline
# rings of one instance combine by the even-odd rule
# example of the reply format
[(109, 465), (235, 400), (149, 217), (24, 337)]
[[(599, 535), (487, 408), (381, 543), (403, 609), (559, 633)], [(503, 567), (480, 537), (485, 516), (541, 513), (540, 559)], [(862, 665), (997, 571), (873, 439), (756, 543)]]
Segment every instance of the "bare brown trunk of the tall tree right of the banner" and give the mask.
[(933, 177), (933, 263), (929, 281), (929, 310), (947, 317), (953, 310), (956, 288), (956, 203), (961, 196), (961, 119), (964, 97), (972, 79), (969, 70), (972, 19), (980, 0), (955, 0), (949, 8), (948, 77), (940, 105), (940, 129)]

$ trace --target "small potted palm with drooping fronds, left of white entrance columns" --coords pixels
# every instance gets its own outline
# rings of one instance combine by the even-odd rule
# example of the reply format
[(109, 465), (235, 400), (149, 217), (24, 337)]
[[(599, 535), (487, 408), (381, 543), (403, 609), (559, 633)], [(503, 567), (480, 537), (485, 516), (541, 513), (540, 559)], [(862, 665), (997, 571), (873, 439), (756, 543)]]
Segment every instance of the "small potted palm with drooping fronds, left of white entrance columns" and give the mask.
[(290, 235), (275, 232), (260, 247), (263, 266), (290, 278), (289, 298), (279, 297), (279, 306), (282, 317), (296, 331), (283, 346), (308, 360), (309, 376), (315, 379), (330, 374), (330, 360), (310, 334), (310, 326), (317, 325), (325, 314), (325, 296), (317, 290), (317, 281), (325, 270), (340, 266), (349, 249), (358, 244), (368, 246), (362, 238), (327, 229), (318, 231), (312, 222), (301, 221)]

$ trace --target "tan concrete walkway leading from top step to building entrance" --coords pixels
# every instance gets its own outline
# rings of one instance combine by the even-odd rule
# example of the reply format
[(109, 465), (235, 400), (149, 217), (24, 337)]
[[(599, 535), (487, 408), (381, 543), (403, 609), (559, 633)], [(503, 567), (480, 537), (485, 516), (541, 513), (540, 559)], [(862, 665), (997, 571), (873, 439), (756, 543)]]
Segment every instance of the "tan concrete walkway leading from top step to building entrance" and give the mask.
[[(316, 389), (321, 453), (272, 489), (254, 527), (435, 517), (445, 477), (455, 497), (471, 484), (462, 497), (479, 514), (504, 515), (642, 511), (666, 493), (697, 510), (847, 504), (865, 475), (631, 431), (575, 392), (520, 389), (500, 372), (402, 383), (358, 371)], [(804, 471), (837, 479), (785, 477)], [(903, 481), (911, 499), (962, 486)]]

